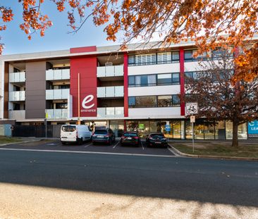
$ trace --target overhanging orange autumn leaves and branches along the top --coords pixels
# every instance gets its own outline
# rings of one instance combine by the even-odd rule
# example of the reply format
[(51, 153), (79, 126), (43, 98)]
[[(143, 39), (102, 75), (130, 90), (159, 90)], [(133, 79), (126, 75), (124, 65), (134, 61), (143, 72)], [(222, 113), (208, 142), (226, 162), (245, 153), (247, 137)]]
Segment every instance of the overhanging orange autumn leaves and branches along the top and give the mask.
[[(68, 25), (77, 32), (92, 18), (95, 25), (105, 25), (107, 39), (116, 41), (123, 33), (123, 46), (132, 39), (148, 42), (159, 36), (164, 44), (187, 39), (194, 41), (199, 53), (216, 46), (233, 48), (249, 44), (257, 32), (257, 0), (17, 0), (23, 7), (20, 29), (31, 39), (32, 33), (51, 27), (51, 18), (41, 10), (44, 1), (53, 1), (58, 11), (67, 11)], [(0, 6), (0, 16), (6, 23), (13, 20), (13, 11)], [(90, 13), (85, 13), (90, 8)], [(46, 13), (46, 14), (45, 14)], [(77, 21), (75, 18), (79, 18)], [(226, 37), (225, 37), (226, 35)], [(223, 37), (224, 36), (224, 37)], [(252, 80), (257, 73), (257, 42), (236, 58), (238, 77)], [(2, 48), (1, 48), (2, 49)], [(247, 74), (248, 73), (248, 74)]]

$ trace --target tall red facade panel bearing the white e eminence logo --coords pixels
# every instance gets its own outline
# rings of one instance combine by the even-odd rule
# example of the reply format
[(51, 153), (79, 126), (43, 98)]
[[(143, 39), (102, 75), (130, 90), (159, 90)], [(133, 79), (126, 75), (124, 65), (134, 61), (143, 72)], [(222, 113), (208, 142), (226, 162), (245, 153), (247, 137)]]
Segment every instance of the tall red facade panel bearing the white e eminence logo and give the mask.
[(97, 116), (97, 57), (70, 59), (70, 94), (73, 117)]

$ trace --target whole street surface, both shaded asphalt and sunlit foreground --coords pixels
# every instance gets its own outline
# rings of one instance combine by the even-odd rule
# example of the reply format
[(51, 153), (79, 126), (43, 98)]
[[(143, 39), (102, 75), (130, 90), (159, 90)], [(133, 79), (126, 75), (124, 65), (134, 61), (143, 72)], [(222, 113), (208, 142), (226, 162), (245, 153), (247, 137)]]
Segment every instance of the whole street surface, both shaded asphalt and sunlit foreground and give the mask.
[(258, 218), (257, 162), (162, 150), (164, 157), (1, 149), (0, 218)]

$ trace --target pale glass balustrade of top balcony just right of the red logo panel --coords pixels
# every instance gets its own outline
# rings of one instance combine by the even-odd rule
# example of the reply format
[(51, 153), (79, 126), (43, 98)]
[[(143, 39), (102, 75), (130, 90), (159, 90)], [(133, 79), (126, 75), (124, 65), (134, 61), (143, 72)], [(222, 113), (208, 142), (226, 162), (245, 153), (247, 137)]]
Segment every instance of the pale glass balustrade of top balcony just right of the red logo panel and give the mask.
[(123, 65), (97, 67), (97, 77), (123, 76)]

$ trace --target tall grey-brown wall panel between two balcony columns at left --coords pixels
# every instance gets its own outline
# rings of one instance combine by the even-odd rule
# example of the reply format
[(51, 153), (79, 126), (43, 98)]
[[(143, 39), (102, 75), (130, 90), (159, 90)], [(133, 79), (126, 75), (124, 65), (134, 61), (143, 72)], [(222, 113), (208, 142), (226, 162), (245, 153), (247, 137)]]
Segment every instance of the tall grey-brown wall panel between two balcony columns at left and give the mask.
[(25, 118), (45, 118), (46, 62), (26, 63)]

